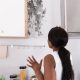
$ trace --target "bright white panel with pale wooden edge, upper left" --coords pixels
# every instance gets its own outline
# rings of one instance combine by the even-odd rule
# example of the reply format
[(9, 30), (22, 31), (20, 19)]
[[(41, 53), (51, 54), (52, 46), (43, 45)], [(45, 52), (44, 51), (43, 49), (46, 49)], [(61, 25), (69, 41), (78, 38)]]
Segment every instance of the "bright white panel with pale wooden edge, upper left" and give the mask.
[(26, 0), (0, 0), (0, 37), (26, 37)]

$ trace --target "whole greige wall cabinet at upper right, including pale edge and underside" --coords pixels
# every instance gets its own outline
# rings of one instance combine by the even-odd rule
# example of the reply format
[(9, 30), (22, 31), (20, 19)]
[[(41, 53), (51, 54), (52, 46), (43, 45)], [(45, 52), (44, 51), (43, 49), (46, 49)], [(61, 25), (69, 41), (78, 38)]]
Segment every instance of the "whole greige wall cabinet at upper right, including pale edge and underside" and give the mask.
[(80, 36), (80, 0), (64, 0), (63, 7), (65, 19), (62, 20), (65, 20), (67, 32), (70, 36)]

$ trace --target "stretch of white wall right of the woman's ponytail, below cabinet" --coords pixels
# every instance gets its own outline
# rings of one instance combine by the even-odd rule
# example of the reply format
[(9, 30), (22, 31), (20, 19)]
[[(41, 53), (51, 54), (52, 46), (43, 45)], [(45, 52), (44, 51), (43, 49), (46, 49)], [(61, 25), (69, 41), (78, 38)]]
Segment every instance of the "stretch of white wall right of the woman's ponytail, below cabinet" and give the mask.
[(73, 57), (73, 66), (75, 71), (75, 80), (80, 80), (80, 38), (71, 38), (67, 45)]

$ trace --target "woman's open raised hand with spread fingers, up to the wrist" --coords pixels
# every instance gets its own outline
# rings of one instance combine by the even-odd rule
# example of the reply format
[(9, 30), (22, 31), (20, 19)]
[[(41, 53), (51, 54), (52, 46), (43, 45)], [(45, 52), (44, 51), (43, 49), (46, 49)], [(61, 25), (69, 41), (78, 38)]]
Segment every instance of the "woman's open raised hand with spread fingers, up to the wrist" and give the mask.
[(42, 60), (40, 61), (40, 64), (36, 61), (36, 59), (32, 56), (28, 57), (27, 61), (29, 62), (28, 66), (31, 67), (35, 72), (41, 70)]

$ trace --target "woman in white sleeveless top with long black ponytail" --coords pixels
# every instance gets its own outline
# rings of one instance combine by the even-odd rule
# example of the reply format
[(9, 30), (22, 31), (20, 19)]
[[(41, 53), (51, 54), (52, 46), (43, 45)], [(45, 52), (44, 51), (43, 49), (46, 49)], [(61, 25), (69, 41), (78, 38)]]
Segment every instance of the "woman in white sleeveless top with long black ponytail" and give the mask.
[(54, 27), (48, 34), (48, 45), (53, 49), (53, 54), (44, 57), (44, 74), (41, 64), (32, 56), (27, 60), (34, 70), (38, 80), (74, 80), (74, 72), (70, 60), (70, 52), (65, 48), (68, 34), (61, 27)]

